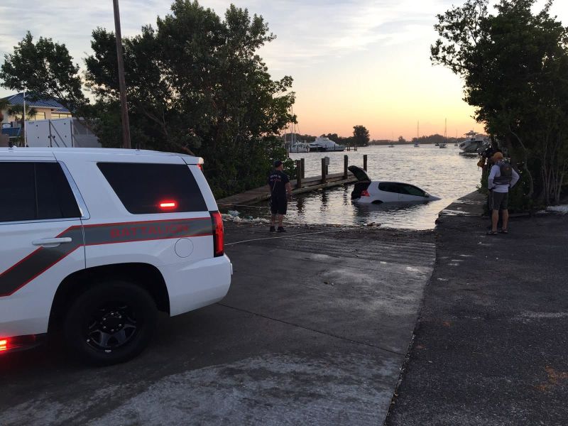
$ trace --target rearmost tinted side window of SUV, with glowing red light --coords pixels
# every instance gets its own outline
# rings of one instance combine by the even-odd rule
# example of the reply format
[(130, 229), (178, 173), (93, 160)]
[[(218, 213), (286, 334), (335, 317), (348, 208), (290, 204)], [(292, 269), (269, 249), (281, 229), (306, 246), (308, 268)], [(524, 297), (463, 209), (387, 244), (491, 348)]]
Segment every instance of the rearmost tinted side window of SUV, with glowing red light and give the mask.
[(185, 164), (97, 165), (124, 207), (133, 214), (207, 211), (200, 187)]

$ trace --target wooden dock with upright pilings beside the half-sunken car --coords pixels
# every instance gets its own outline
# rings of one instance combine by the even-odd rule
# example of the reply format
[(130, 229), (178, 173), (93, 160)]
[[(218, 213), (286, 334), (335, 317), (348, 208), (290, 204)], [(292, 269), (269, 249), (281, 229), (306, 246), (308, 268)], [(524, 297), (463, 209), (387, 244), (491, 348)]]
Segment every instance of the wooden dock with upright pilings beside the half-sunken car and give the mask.
[[(290, 180), (290, 185), (292, 185), (293, 194), (301, 194), (302, 192), (310, 192), (315, 190), (320, 190), (322, 188), (337, 187), (340, 185), (345, 185), (347, 183), (356, 182), (357, 178), (347, 170), (347, 155), (345, 155), (344, 160), (344, 172), (343, 173), (332, 173), (327, 174), (327, 168), (324, 165), (324, 158), (322, 158), (322, 175), (315, 176), (312, 178), (303, 178), (302, 175), (302, 162), (297, 160), (297, 178)], [(363, 164), (366, 170), (367, 156), (364, 155)], [(217, 200), (217, 205), (222, 208), (235, 207), (242, 205), (254, 204), (256, 202), (261, 202), (268, 200), (271, 197), (271, 189), (268, 185), (256, 188), (255, 190), (249, 190), (241, 192), (240, 194), (231, 195), (230, 197), (222, 198)]]

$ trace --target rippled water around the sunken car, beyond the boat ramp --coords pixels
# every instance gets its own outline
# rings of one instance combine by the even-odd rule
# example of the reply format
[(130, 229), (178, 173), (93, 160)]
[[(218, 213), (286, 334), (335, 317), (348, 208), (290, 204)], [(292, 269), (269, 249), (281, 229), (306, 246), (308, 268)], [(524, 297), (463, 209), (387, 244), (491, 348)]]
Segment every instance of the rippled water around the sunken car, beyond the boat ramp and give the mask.
[[(366, 225), (400, 229), (432, 229), (440, 210), (459, 197), (476, 189), (481, 170), (478, 158), (459, 155), (457, 146), (440, 149), (434, 145), (371, 146), (357, 152), (344, 153), (292, 153), (293, 160), (305, 158), (305, 175), (321, 174), (321, 158), (329, 157), (329, 173), (343, 172), (343, 156), (349, 155), (349, 165), (363, 167), (367, 154), (367, 173), (372, 180), (408, 182), (442, 200), (412, 205), (351, 203), (353, 185), (317, 190), (297, 195), (288, 204), (286, 222), (300, 224)], [(293, 177), (291, 177), (293, 178)], [(270, 215), (268, 202), (258, 207), (239, 208), (241, 217)]]

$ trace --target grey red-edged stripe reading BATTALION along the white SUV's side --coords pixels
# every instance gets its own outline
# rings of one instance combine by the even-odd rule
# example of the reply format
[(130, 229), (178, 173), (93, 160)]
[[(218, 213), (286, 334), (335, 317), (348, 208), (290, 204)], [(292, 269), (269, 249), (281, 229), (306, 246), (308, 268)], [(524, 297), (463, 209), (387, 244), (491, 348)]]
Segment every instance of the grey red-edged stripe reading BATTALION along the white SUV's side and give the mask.
[(0, 274), (0, 297), (15, 293), (81, 246), (209, 236), (212, 233), (210, 217), (70, 226), (58, 237), (69, 236), (74, 242), (50, 249), (40, 247)]

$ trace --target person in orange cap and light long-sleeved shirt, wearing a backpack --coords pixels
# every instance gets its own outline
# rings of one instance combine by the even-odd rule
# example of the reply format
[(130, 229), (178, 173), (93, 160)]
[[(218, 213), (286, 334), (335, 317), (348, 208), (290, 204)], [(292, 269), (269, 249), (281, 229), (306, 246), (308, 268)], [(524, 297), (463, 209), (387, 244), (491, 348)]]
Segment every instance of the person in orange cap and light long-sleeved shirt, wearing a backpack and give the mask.
[(509, 188), (515, 186), (519, 180), (519, 175), (511, 167), (508, 161), (503, 160), (503, 153), (496, 152), (491, 157), (493, 166), (487, 178), (487, 187), (489, 189), (489, 210), (491, 211), (491, 231), (488, 235), (497, 234), (497, 222), (499, 220), (499, 211), (502, 213), (503, 226), (498, 231), (499, 234), (507, 234), (507, 226), (509, 222), (508, 199)]

